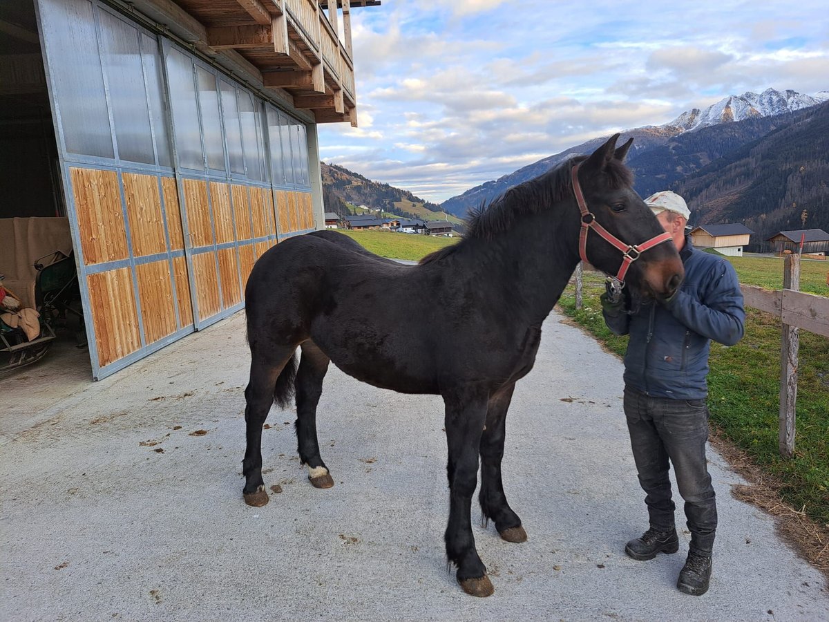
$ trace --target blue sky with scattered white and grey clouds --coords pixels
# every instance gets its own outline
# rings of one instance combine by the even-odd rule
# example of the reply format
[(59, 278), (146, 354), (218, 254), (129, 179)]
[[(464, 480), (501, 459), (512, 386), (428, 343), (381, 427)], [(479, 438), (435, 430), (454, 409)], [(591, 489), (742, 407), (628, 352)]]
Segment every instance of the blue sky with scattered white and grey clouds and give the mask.
[(360, 127), (321, 158), (441, 202), (727, 95), (829, 90), (826, 3), (383, 0), (351, 12)]

